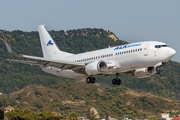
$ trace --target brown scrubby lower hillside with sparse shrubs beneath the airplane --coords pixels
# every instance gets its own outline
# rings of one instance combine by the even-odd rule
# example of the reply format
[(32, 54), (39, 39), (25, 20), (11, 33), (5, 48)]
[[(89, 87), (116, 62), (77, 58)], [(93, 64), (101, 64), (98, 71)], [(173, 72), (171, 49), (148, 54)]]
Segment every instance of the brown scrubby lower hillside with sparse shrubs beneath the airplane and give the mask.
[(0, 96), (0, 107), (7, 105), (33, 111), (56, 111), (63, 116), (71, 112), (86, 116), (92, 107), (99, 115), (120, 118), (147, 117), (161, 112), (179, 112), (179, 101), (137, 92), (124, 86), (109, 87), (104, 84), (87, 84), (85, 80), (66, 81), (50, 88), (28, 85), (25, 88)]

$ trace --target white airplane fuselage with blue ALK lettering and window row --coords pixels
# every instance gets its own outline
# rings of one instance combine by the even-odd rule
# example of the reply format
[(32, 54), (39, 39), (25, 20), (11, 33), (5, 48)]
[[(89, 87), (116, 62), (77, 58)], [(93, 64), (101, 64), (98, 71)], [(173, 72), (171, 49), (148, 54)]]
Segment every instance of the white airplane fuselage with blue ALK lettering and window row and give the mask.
[[(173, 53), (174, 50), (168, 47), (165, 43), (147, 41), (71, 55), (63, 58), (63, 60), (85, 64), (100, 60), (116, 63), (115, 67), (100, 74), (110, 75), (139, 68), (151, 67), (159, 62), (166, 63), (173, 57)], [(54, 75), (69, 78), (89, 76), (88, 74), (76, 73), (72, 70), (61, 70), (55, 67), (42, 67), (42, 70)]]

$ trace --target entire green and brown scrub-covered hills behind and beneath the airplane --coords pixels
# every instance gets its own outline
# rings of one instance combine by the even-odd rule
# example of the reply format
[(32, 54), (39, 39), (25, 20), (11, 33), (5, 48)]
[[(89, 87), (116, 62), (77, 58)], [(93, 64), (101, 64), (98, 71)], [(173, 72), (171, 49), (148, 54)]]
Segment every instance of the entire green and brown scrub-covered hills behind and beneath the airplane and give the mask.
[[(180, 64), (177, 62), (169, 61), (161, 68), (160, 76), (137, 79), (121, 74), (121, 86), (111, 85), (115, 76), (97, 77), (96, 84), (86, 84), (79, 79), (67, 79), (42, 72), (38, 66), (14, 62), (10, 64), (6, 59), (20, 58), (8, 54), (3, 40), (8, 41), (17, 53), (42, 56), (39, 35), (36, 31), (0, 31), (0, 92), (5, 94), (0, 96), (0, 107), (12, 105), (36, 112), (55, 110), (63, 115), (76, 112), (79, 116), (95, 106), (100, 115), (110, 114), (116, 117), (127, 114), (131, 117), (146, 116), (149, 113), (158, 114), (162, 109), (176, 110), (179, 107)], [(50, 31), (50, 34), (61, 50), (71, 53), (127, 44), (122, 40), (114, 41), (108, 37), (113, 33), (103, 29), (60, 30)], [(145, 112), (141, 112), (141, 109)], [(32, 111), (29, 113), (34, 114)], [(19, 112), (23, 117), (24, 111)]]

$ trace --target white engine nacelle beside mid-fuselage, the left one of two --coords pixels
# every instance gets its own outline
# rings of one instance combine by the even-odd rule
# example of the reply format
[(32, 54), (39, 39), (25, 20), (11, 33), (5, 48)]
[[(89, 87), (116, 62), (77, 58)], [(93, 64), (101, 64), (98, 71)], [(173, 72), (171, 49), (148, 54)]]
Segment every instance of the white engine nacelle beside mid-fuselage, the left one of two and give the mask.
[(104, 61), (95, 61), (89, 63), (85, 67), (85, 71), (88, 75), (97, 75), (105, 72), (108, 69), (106, 62)]

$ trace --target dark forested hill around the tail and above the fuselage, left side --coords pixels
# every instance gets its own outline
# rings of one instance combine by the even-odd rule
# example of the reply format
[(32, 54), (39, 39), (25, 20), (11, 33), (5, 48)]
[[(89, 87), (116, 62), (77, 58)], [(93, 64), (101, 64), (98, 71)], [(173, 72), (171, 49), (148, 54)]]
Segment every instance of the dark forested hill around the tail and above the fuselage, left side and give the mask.
[[(78, 29), (50, 31), (61, 50), (79, 53), (90, 50), (107, 48), (108, 45), (115, 46), (125, 44), (126, 41), (114, 41), (108, 37), (109, 34), (103, 29)], [(12, 62), (6, 59), (16, 58), (10, 56), (2, 40), (8, 41), (12, 49), (17, 53), (42, 56), (38, 32), (23, 32), (15, 30), (12, 32), (0, 30), (0, 92), (9, 93), (22, 89), (29, 84), (42, 84), (49, 86), (67, 79), (53, 76), (41, 71), (38, 66), (30, 66)], [(21, 58), (16, 58), (21, 59)]]

